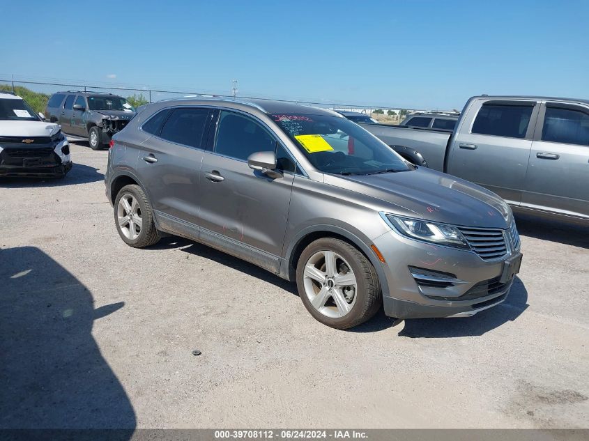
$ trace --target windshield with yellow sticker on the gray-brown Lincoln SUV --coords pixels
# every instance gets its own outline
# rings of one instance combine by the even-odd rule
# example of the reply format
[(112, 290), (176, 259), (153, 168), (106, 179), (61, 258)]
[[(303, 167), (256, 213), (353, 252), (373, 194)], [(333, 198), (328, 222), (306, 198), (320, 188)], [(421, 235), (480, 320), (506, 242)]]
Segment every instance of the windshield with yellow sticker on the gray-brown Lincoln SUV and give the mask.
[(346, 118), (275, 114), (273, 119), (324, 173), (365, 175), (411, 170), (390, 147)]

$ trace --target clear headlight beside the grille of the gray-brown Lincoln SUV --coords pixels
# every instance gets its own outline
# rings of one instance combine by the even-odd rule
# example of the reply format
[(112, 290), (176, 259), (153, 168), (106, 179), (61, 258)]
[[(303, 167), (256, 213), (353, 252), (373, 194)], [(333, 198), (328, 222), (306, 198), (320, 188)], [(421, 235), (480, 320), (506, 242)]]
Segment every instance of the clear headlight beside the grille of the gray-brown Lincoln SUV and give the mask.
[(386, 217), (395, 230), (408, 238), (448, 247), (469, 248), (462, 233), (454, 226), (393, 215)]

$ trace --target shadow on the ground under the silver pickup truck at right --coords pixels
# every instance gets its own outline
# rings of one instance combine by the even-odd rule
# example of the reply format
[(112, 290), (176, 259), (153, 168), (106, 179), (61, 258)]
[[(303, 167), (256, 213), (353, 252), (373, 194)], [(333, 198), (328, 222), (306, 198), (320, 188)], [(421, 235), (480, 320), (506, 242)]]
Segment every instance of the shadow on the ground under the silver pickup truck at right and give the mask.
[(552, 219), (539, 219), (529, 215), (516, 215), (516, 223), (520, 235), (589, 249), (587, 226), (567, 224)]

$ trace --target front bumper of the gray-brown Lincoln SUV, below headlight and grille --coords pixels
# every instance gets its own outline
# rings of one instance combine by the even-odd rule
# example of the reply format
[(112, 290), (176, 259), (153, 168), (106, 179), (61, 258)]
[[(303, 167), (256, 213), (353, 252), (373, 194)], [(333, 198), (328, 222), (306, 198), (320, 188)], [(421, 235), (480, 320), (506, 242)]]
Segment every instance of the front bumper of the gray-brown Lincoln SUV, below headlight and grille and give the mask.
[[(376, 238), (374, 245), (386, 261), (381, 263), (389, 287), (383, 293), (385, 314), (395, 318), (472, 316), (496, 306), (513, 284), (513, 279), (500, 281), (504, 262), (519, 254), (514, 249), (484, 261), (475, 252), (411, 240), (395, 231)], [(429, 283), (427, 275), (418, 279), (415, 272), (438, 274), (448, 283)]]

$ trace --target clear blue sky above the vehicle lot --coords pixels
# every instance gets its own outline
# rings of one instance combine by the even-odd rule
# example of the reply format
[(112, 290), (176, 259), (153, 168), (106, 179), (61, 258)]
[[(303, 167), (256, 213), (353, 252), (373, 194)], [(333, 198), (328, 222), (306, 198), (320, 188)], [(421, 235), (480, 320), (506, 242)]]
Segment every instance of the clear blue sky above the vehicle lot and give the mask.
[(429, 109), (589, 98), (586, 0), (85, 4), (4, 2), (1, 76)]

